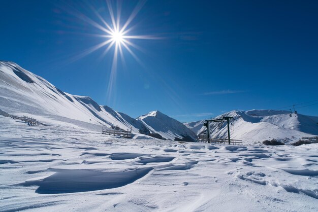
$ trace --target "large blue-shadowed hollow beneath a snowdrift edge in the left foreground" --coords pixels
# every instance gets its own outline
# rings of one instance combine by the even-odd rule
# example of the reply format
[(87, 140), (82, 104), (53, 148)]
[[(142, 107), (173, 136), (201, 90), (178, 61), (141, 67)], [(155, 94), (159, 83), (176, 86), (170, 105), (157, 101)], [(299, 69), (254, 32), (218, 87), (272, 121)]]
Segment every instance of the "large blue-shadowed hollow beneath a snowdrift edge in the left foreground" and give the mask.
[(57, 169), (45, 179), (26, 181), (22, 186), (39, 186), (39, 194), (61, 194), (112, 189), (142, 178), (151, 167), (104, 172), (89, 169)]

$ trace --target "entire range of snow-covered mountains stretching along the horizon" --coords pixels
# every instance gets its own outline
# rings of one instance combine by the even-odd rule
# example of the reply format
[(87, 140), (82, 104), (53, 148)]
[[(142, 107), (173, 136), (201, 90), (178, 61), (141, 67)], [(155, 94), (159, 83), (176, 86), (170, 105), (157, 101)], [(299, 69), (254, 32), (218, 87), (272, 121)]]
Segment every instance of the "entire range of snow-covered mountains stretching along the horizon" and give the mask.
[[(101, 106), (88, 96), (61, 91), (45, 79), (28, 72), (13, 62), (0, 61), (0, 109), (9, 113), (30, 114), (46, 123), (65, 122), (94, 130), (101, 126), (132, 128), (137, 137), (152, 136), (172, 140), (196, 140), (206, 132), (204, 120), (181, 124), (159, 111), (134, 119), (107, 106)], [(262, 142), (281, 138), (297, 140), (318, 135), (318, 117), (293, 114), (288, 111), (251, 110), (222, 114), (235, 120), (231, 137), (244, 142)], [(211, 123), (211, 137), (227, 138), (226, 122)]]

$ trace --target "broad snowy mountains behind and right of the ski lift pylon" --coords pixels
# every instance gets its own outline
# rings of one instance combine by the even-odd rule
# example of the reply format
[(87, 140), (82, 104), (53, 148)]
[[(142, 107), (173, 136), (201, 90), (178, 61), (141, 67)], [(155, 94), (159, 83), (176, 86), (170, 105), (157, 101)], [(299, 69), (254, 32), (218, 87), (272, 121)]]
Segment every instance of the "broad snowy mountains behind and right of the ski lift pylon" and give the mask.
[[(231, 121), (231, 138), (241, 139), (244, 142), (263, 142), (266, 139), (280, 138), (285, 142), (298, 140), (303, 136), (318, 135), (318, 117), (292, 114), (289, 111), (273, 110), (251, 110), (231, 111), (215, 117), (234, 117)], [(186, 127), (193, 130), (197, 135), (206, 133), (203, 126), (205, 120), (184, 123)], [(212, 138), (227, 138), (227, 123), (210, 123)]]

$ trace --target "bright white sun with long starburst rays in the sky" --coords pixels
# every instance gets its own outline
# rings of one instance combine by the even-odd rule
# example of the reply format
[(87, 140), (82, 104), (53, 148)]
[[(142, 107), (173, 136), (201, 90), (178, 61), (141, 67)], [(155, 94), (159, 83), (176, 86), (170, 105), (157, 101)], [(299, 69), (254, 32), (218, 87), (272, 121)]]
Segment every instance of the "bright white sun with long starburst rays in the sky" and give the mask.
[(135, 26), (131, 26), (134, 18), (137, 16), (138, 12), (141, 10), (146, 1), (141, 0), (138, 2), (136, 7), (133, 9), (131, 15), (126, 19), (125, 22), (121, 22), (120, 14), (121, 14), (121, 6), (120, 4), (116, 4), (116, 10), (113, 10), (112, 1), (106, 0), (109, 18), (104, 17), (100, 14), (99, 10), (95, 9), (94, 6), (87, 3), (88, 8), (96, 15), (96, 20), (92, 17), (88, 17), (83, 13), (78, 11), (70, 11), (71, 14), (76, 16), (81, 21), (90, 24), (93, 27), (96, 27), (100, 30), (97, 34), (92, 34), (94, 37), (103, 38), (103, 42), (92, 46), (86, 50), (84, 50), (80, 55), (76, 56), (75, 59), (82, 58), (87, 56), (88, 54), (97, 51), (98, 49), (104, 48), (103, 53), (100, 58), (103, 58), (109, 51), (113, 50), (113, 61), (111, 63), (111, 69), (109, 73), (109, 83), (107, 88), (107, 98), (108, 102), (111, 100), (113, 89), (115, 88), (116, 83), (116, 75), (117, 75), (117, 61), (120, 57), (122, 63), (125, 63), (124, 60), (124, 51), (130, 53), (130, 55), (136, 59), (138, 63), (141, 65), (142, 62), (135, 54), (134, 49), (143, 51), (141, 47), (135, 44), (133, 40), (156, 40), (161, 39), (154, 36), (149, 35), (134, 35), (132, 34)]

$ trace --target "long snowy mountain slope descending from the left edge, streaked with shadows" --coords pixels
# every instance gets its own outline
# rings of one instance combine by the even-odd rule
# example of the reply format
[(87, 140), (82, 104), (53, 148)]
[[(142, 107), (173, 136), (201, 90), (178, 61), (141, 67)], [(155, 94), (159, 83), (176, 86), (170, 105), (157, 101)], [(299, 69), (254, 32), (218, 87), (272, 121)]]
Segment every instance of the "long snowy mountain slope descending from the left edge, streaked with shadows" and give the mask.
[(89, 96), (71, 95), (13, 62), (0, 62), (0, 107), (12, 113), (65, 117), (107, 127), (132, 127), (121, 115)]

